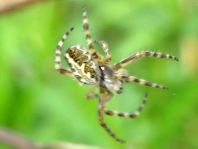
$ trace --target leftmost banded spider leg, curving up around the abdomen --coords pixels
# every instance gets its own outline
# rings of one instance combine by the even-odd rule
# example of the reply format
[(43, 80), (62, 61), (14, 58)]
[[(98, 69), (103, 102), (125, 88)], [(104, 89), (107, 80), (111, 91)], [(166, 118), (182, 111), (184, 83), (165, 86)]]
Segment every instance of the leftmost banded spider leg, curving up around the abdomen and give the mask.
[(56, 47), (56, 53), (55, 53), (55, 69), (63, 75), (71, 75), (72, 73), (69, 70), (66, 70), (61, 67), (61, 53), (62, 53), (62, 48), (64, 41), (67, 39), (69, 36), (69, 33), (73, 30), (74, 28), (70, 28), (69, 32), (66, 32), (63, 34), (61, 40), (58, 42), (57, 47)]

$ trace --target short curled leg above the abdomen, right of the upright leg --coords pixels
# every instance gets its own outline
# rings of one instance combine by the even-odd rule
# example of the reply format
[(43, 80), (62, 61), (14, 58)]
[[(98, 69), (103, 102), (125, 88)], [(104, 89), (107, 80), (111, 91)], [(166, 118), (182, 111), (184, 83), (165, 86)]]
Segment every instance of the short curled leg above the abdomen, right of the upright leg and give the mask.
[(108, 64), (111, 61), (111, 54), (109, 52), (108, 44), (103, 40), (95, 41), (95, 43), (100, 45), (102, 47), (102, 49), (104, 50), (104, 52), (106, 54), (105, 62)]

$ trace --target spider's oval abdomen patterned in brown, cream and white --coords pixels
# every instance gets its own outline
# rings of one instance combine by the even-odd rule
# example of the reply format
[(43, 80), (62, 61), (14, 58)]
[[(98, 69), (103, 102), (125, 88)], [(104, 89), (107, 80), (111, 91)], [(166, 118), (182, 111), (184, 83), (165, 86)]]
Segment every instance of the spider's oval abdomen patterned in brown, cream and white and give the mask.
[(75, 78), (84, 84), (97, 84), (98, 64), (91, 60), (91, 54), (80, 46), (68, 48), (65, 58)]

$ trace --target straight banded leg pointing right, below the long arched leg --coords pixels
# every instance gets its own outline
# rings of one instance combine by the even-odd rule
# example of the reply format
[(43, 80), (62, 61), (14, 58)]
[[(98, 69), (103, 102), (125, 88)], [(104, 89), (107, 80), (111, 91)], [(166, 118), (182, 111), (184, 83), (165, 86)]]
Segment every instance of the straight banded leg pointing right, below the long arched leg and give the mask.
[(160, 88), (160, 89), (168, 89), (168, 87), (157, 84), (157, 83), (153, 83), (150, 81), (146, 81), (144, 79), (140, 79), (134, 76), (121, 76), (121, 80), (125, 81), (125, 82), (135, 82), (138, 83), (140, 85), (145, 85), (145, 86), (149, 86), (149, 87), (154, 87), (154, 88)]

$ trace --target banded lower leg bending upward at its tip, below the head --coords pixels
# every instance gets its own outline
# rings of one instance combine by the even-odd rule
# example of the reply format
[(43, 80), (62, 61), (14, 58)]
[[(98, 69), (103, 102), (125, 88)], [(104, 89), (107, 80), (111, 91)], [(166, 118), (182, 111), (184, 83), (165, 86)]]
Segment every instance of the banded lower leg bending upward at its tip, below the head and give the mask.
[(148, 95), (145, 94), (144, 99), (142, 100), (141, 105), (136, 109), (135, 112), (132, 113), (128, 113), (128, 112), (118, 112), (118, 111), (112, 111), (112, 110), (107, 110), (105, 109), (105, 114), (108, 116), (118, 116), (118, 117), (125, 117), (125, 118), (136, 118), (140, 115), (140, 113), (142, 112), (146, 102), (148, 99)]

